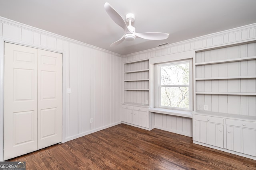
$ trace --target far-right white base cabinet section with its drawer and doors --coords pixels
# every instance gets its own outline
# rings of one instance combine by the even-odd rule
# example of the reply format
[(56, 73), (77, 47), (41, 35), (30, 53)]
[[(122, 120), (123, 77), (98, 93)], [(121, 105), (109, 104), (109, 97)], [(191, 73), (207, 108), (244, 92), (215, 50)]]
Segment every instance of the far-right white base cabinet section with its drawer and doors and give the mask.
[(227, 149), (256, 156), (256, 122), (226, 120)]

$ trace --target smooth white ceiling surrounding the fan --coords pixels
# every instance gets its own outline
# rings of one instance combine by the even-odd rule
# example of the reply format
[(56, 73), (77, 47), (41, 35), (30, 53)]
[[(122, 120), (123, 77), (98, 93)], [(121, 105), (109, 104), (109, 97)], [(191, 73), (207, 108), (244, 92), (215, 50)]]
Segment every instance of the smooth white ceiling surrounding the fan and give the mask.
[[(104, 10), (105, 2), (123, 18), (134, 13), (136, 32), (165, 32), (169, 38), (110, 47), (124, 31)], [(0, 16), (127, 55), (256, 23), (256, 0), (0, 0)]]

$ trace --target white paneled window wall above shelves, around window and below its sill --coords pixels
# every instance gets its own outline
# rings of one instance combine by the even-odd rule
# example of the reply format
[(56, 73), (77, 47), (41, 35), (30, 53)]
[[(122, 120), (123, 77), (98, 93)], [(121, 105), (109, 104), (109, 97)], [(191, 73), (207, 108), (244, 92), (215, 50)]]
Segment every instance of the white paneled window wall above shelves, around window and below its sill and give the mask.
[[(186, 41), (173, 43), (164, 47), (141, 51), (138, 53), (124, 56), (123, 62), (132, 62), (142, 59), (149, 59), (149, 63), (157, 63), (156, 61), (167, 62), (195, 58), (196, 51), (212, 49), (215, 47), (222, 47), (226, 45), (233, 45), (237, 43), (244, 43), (256, 40), (256, 23), (238, 27)], [(192, 55), (191, 55), (192, 54)], [(151, 66), (151, 68), (153, 68)], [(193, 68), (194, 69), (194, 68)], [(151, 69), (151, 74), (154, 71)], [(195, 71), (193, 71), (195, 72)], [(153, 76), (151, 75), (151, 78)], [(195, 78), (195, 74), (194, 74)], [(152, 82), (154, 80), (150, 80)], [(194, 87), (195, 88), (195, 87)], [(195, 89), (193, 90), (195, 92)], [(154, 107), (154, 92), (150, 92), (150, 106)], [(195, 95), (193, 99), (193, 107), (195, 111)], [(178, 117), (173, 115), (165, 115), (155, 113), (155, 128), (179, 133), (192, 137), (192, 118)]]

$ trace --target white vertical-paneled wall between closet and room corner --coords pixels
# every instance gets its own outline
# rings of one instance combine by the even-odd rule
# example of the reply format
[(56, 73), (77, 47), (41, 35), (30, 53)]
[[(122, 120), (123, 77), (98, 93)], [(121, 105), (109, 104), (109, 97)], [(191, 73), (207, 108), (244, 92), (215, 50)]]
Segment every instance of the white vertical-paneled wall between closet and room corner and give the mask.
[(121, 62), (115, 55), (70, 43), (67, 136), (72, 138), (120, 122)]

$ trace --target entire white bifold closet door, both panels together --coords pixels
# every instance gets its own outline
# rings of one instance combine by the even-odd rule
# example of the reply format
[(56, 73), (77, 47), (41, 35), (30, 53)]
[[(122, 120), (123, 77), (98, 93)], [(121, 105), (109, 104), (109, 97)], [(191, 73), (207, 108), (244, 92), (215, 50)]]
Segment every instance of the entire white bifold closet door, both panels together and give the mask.
[(4, 44), (4, 160), (62, 141), (62, 54)]

